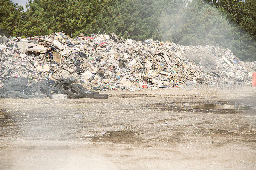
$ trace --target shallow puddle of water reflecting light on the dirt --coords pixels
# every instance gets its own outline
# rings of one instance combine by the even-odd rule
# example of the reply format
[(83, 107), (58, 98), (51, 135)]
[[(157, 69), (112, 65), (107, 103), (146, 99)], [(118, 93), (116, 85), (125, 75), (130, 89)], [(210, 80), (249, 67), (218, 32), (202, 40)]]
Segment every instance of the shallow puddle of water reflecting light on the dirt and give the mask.
[(240, 109), (248, 110), (255, 109), (253, 106), (247, 105), (227, 105), (227, 104), (208, 104), (208, 103), (180, 103), (170, 106), (181, 107), (181, 109), (212, 109), (212, 110), (225, 110), (225, 109)]

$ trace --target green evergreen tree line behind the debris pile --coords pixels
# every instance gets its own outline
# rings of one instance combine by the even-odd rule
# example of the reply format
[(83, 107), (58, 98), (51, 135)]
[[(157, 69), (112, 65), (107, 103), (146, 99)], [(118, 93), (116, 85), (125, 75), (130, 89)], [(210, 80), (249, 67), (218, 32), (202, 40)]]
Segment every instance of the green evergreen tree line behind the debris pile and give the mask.
[(1, 0), (0, 33), (76, 37), (105, 31), (136, 41), (217, 45), (240, 60), (256, 60), (255, 0), (29, 0), (26, 9)]

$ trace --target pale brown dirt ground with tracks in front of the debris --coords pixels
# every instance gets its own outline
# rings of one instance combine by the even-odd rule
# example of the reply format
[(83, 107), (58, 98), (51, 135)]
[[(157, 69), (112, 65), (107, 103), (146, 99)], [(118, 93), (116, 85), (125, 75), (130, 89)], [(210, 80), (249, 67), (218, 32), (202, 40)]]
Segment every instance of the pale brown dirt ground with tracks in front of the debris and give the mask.
[(256, 168), (255, 108), (182, 106), (255, 107), (256, 88), (100, 93), (109, 98), (0, 99), (0, 169)]

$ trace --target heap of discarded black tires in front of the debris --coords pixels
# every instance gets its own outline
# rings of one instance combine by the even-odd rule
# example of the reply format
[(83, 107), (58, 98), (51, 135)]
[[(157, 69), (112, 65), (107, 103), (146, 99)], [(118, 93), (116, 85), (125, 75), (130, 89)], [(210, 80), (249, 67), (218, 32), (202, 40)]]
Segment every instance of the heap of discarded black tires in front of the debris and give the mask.
[(85, 90), (82, 85), (72, 84), (67, 78), (54, 80), (28, 81), (27, 78), (12, 78), (4, 82), (0, 89), (3, 98), (45, 98), (52, 99), (53, 94), (67, 94), (70, 98), (108, 99), (108, 94)]

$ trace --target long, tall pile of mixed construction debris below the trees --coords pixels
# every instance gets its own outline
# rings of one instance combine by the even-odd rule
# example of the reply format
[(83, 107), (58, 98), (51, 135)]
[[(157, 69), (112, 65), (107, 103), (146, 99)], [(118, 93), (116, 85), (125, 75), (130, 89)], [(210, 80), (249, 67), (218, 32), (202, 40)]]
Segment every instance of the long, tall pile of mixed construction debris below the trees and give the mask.
[(136, 89), (186, 82), (252, 81), (255, 62), (228, 49), (181, 46), (171, 42), (123, 40), (111, 35), (70, 38), (52, 33), (29, 38), (1, 37), (1, 85), (13, 77), (40, 81), (74, 78), (99, 89)]

